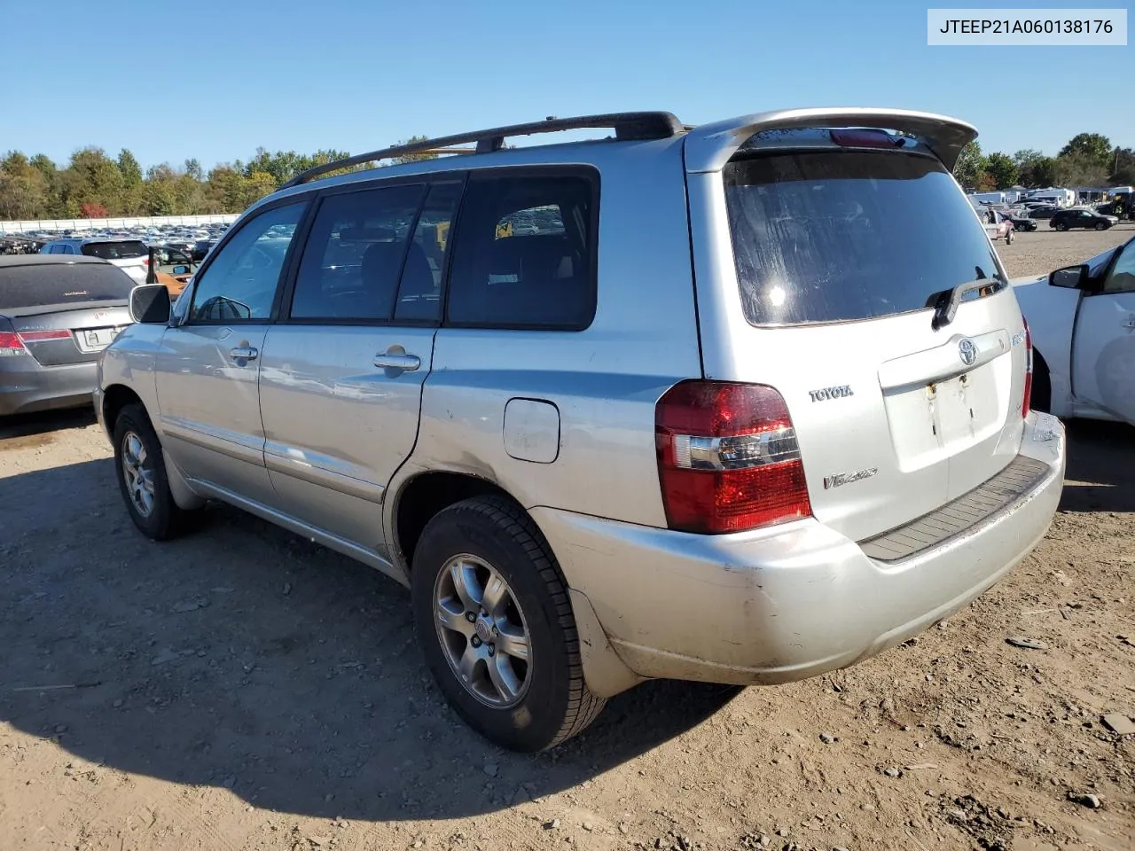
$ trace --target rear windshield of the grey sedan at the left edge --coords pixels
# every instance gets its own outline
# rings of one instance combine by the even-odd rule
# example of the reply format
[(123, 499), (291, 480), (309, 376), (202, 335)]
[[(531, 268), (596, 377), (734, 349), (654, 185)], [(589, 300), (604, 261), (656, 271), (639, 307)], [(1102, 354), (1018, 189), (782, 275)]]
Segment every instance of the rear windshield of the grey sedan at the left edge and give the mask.
[(78, 302), (125, 302), (134, 281), (104, 263), (0, 267), (0, 312)]

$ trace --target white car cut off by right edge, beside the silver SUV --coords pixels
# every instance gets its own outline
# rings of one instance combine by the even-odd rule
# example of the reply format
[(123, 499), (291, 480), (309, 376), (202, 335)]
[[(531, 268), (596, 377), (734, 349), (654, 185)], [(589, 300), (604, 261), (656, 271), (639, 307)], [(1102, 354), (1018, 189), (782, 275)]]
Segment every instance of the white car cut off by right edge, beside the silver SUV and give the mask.
[(1135, 238), (1012, 285), (1033, 338), (1033, 406), (1135, 426)]

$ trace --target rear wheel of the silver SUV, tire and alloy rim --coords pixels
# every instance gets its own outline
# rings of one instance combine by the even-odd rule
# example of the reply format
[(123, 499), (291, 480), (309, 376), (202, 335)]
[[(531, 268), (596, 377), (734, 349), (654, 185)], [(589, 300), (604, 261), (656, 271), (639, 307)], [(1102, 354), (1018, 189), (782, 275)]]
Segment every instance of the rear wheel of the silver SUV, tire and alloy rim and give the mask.
[(477, 497), (434, 516), (414, 550), (414, 626), (438, 688), (491, 742), (555, 747), (603, 709), (583, 682), (566, 582), (515, 504)]

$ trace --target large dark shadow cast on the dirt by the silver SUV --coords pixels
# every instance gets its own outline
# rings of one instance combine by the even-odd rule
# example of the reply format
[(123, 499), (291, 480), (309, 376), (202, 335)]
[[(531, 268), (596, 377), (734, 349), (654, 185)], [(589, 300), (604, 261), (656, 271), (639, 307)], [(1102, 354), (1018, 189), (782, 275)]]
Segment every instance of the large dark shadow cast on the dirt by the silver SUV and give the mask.
[(738, 693), (648, 683), (552, 753), (501, 751), (445, 706), (395, 582), (227, 507), (146, 541), (111, 464), (0, 479), (0, 719), (83, 759), (309, 816), (456, 818), (573, 786)]

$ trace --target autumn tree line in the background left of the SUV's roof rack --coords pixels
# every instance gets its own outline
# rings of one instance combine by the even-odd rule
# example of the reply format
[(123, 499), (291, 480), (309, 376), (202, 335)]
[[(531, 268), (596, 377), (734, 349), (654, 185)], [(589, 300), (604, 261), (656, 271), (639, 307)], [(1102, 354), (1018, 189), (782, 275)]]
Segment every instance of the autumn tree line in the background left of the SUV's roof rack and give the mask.
[[(412, 136), (406, 142), (423, 138)], [(435, 155), (410, 154), (395, 161)], [(27, 157), (9, 151), (0, 159), (0, 219), (239, 212), (302, 171), (346, 157), (345, 151), (335, 150), (301, 154), (260, 148), (247, 162), (221, 163), (207, 174), (195, 159), (185, 160), (180, 168), (163, 162), (143, 172), (125, 148), (118, 157), (109, 157), (101, 148), (84, 148), (64, 167), (42, 153)]]

